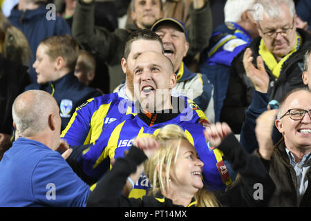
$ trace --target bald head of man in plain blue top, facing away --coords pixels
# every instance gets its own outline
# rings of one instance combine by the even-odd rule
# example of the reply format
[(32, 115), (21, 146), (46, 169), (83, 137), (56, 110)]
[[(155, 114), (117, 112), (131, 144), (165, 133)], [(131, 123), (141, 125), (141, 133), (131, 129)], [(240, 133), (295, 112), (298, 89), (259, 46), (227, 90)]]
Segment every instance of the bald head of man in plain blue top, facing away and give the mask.
[(43, 90), (21, 93), (12, 106), (13, 122), (21, 137), (32, 137), (44, 131), (49, 116), (57, 115), (58, 112), (54, 97)]

